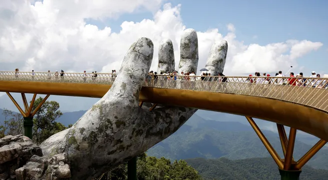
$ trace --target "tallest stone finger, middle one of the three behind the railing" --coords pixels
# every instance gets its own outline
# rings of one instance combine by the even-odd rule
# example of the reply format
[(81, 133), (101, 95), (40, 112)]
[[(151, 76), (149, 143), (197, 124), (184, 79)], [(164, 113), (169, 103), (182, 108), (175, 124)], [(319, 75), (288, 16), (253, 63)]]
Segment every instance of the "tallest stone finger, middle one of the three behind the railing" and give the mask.
[(194, 29), (184, 30), (180, 41), (179, 74), (195, 71), (198, 65), (198, 37)]

